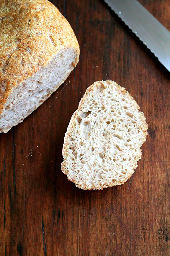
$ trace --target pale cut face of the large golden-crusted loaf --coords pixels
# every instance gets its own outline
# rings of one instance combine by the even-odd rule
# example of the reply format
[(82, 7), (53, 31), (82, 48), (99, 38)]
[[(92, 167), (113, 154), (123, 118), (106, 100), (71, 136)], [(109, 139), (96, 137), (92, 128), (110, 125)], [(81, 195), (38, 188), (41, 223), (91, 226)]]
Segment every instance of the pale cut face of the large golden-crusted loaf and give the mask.
[(0, 115), (0, 132), (8, 132), (39, 107), (66, 80), (78, 63), (79, 51), (64, 48), (31, 78), (16, 87)]

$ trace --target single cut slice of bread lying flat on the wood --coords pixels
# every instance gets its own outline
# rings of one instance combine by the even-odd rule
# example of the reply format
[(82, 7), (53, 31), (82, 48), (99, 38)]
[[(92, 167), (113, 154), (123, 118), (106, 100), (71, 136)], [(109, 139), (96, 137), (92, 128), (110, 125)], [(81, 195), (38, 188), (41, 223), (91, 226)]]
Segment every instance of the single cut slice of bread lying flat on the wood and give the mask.
[(62, 149), (62, 172), (82, 189), (121, 185), (134, 173), (147, 137), (139, 106), (117, 83), (97, 81), (71, 117)]

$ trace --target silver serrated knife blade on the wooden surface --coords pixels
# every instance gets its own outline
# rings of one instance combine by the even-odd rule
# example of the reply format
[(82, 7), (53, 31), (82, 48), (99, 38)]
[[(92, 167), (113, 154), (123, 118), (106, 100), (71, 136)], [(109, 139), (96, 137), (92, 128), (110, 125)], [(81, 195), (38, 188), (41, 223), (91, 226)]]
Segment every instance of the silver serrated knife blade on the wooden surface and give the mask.
[(137, 0), (104, 0), (170, 71), (170, 32)]

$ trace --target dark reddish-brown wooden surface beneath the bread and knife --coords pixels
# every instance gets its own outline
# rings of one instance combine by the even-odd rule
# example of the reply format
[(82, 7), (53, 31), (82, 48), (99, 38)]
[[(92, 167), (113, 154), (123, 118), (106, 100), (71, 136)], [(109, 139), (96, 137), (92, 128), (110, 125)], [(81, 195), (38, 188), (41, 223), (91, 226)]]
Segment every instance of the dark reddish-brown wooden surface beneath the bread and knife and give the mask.
[[(140, 0), (170, 30), (169, 0)], [(170, 255), (170, 73), (101, 0), (53, 1), (80, 45), (79, 64), (23, 123), (0, 134), (0, 255)], [(145, 113), (142, 159), (123, 185), (76, 188), (62, 144), (86, 88), (111, 79)]]

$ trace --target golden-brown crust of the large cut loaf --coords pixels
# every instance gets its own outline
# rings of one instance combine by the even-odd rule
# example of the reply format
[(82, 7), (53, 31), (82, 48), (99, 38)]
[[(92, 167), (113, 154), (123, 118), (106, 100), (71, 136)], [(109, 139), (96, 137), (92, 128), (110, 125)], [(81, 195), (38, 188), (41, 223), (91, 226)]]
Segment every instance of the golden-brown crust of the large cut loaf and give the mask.
[(11, 91), (61, 49), (79, 56), (70, 24), (47, 0), (0, 0), (0, 31), (0, 112)]

